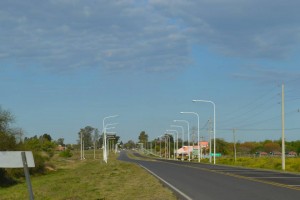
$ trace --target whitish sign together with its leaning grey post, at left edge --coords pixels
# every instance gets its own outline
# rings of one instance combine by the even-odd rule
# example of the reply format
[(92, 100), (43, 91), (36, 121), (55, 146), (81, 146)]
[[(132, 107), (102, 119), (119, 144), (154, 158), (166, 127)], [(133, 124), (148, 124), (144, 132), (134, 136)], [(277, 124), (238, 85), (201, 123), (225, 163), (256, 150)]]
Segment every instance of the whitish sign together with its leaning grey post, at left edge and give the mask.
[(35, 167), (31, 151), (0, 151), (0, 168), (24, 168), (29, 197), (33, 200), (28, 167)]

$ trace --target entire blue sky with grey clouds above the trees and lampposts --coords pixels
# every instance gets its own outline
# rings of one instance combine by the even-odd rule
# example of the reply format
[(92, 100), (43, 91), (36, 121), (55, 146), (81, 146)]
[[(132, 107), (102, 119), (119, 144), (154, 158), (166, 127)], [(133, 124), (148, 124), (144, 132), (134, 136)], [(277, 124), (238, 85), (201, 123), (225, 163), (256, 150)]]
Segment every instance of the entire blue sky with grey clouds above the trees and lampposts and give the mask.
[[(190, 123), (191, 138), (300, 140), (300, 1), (1, 0), (0, 106), (25, 137), (123, 142)], [(181, 129), (179, 137), (182, 137)]]

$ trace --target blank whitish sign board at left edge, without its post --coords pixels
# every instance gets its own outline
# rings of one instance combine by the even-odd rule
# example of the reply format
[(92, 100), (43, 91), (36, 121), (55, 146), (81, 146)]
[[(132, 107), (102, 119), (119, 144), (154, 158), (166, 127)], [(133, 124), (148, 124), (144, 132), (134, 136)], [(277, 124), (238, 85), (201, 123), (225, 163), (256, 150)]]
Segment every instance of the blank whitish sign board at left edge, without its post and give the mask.
[[(24, 151), (0, 151), (0, 168), (23, 168), (21, 152)], [(35, 167), (31, 151), (25, 151), (28, 167)]]

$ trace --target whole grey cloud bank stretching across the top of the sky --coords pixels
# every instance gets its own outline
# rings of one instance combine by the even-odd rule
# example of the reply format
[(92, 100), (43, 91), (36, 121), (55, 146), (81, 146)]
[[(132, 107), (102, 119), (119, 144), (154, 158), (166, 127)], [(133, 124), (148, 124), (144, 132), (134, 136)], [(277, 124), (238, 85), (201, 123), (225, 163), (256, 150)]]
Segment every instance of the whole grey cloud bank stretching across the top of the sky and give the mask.
[(191, 63), (192, 45), (281, 59), (299, 44), (299, 6), (296, 0), (4, 0), (0, 59), (64, 70), (178, 70)]

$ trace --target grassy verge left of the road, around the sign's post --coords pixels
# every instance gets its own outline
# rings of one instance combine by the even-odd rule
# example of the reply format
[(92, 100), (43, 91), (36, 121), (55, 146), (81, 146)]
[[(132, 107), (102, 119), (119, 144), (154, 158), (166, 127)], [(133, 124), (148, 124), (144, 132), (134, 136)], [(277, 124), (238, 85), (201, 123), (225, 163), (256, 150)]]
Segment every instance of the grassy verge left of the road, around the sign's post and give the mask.
[[(176, 199), (152, 175), (135, 164), (118, 161), (113, 153), (107, 164), (88, 158), (88, 154), (86, 160), (78, 158), (76, 153), (70, 159), (56, 155), (52, 160), (55, 171), (31, 177), (35, 199)], [(0, 188), (0, 199), (28, 199), (25, 181)]]

